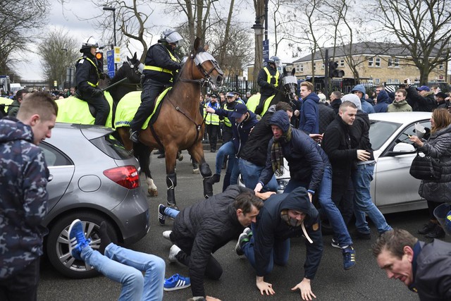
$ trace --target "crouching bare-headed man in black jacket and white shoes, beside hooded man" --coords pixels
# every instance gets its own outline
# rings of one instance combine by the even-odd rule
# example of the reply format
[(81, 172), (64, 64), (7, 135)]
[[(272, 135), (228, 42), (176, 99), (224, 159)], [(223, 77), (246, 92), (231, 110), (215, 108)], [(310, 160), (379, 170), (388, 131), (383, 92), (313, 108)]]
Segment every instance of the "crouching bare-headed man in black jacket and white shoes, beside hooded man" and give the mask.
[(223, 274), (212, 253), (255, 222), (261, 207), (263, 202), (252, 190), (231, 185), (226, 191), (183, 209), (175, 217), (169, 236), (175, 245), (169, 257), (188, 266), (193, 297), (206, 297), (204, 276), (217, 280)]

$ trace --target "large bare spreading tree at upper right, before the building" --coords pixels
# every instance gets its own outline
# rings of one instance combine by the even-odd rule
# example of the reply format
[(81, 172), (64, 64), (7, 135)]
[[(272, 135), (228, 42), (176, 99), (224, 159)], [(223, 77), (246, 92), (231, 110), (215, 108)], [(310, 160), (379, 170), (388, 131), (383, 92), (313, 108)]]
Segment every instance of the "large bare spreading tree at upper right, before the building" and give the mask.
[(451, 6), (449, 0), (378, 0), (382, 29), (409, 51), (426, 84), (434, 68), (450, 59)]

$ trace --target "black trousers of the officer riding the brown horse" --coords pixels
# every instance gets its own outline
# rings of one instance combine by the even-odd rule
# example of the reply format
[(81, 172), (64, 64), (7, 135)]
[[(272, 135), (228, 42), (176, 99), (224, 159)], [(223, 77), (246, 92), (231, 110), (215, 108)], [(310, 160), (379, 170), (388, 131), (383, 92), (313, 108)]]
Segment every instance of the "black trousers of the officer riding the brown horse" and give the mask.
[(132, 132), (141, 130), (144, 121), (149, 118), (155, 108), (156, 97), (163, 92), (166, 85), (156, 80), (147, 79), (142, 83), (141, 104), (130, 123)]

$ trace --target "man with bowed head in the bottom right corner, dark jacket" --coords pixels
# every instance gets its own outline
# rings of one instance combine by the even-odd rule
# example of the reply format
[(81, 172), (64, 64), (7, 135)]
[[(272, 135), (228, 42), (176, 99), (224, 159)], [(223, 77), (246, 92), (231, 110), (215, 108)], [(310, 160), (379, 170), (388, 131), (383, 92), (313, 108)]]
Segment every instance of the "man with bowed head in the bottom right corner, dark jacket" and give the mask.
[(373, 245), (378, 266), (400, 279), (421, 301), (451, 300), (451, 244), (421, 242), (402, 229), (387, 231)]

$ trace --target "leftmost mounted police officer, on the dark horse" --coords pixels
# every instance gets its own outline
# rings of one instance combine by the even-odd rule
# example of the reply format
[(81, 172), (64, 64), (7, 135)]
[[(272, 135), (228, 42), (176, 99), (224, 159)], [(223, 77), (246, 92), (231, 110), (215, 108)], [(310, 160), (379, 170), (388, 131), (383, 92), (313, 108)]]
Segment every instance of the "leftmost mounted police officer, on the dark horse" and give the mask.
[(75, 95), (92, 104), (96, 109), (94, 124), (105, 125), (110, 105), (104, 97), (104, 92), (98, 87), (99, 80), (105, 75), (99, 70), (101, 63), (95, 56), (97, 48), (99, 48), (99, 44), (94, 37), (89, 37), (82, 42), (80, 52), (83, 56), (75, 63)]

